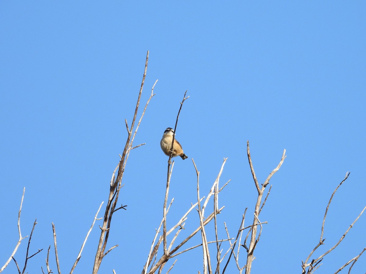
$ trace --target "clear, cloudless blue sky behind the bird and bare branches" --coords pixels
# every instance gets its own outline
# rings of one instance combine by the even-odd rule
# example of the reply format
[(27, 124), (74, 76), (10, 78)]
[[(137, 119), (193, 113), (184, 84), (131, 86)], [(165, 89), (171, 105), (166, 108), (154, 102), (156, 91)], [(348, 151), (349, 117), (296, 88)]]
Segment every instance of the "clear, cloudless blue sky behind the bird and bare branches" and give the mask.
[[(220, 184), (219, 217), (234, 235), (246, 207), (253, 218), (256, 189), (246, 140), (259, 182), (287, 158), (271, 180), (261, 213), (264, 226), (252, 273), (300, 273), (317, 244), (324, 210), (333, 198), (322, 254), (365, 206), (366, 4), (362, 1), (1, 1), (0, 265), (21, 229), (37, 226), (29, 273), (45, 267), (55, 223), (61, 271), (70, 271), (126, 140), (150, 51), (142, 106), (158, 79), (128, 159), (120, 194), (127, 211), (115, 215), (100, 273), (141, 273), (163, 212), (167, 157), (159, 142), (174, 127), (188, 159), (175, 159), (169, 225), (207, 195), (228, 157)], [(140, 110), (141, 111), (141, 110)], [(101, 214), (100, 214), (101, 217)], [(334, 273), (366, 246), (361, 216), (318, 273)], [(98, 225), (74, 273), (91, 273)], [(186, 231), (197, 227), (192, 212)], [(180, 237), (183, 239), (184, 235)], [(212, 235), (211, 235), (212, 236)], [(213, 236), (212, 236), (213, 239)], [(193, 239), (187, 248), (199, 242)], [(15, 254), (23, 263), (27, 240)], [(213, 251), (214, 252), (214, 246)], [(52, 249), (51, 249), (52, 250)], [(241, 265), (245, 251), (241, 251)], [(50, 265), (56, 270), (54, 253)], [(178, 258), (171, 273), (202, 272), (202, 250)], [(354, 273), (366, 269), (366, 255)], [(230, 273), (236, 273), (234, 262)], [(15, 273), (11, 262), (3, 273)], [(345, 270), (344, 270), (345, 271)], [(348, 270), (347, 270), (348, 271)]]

